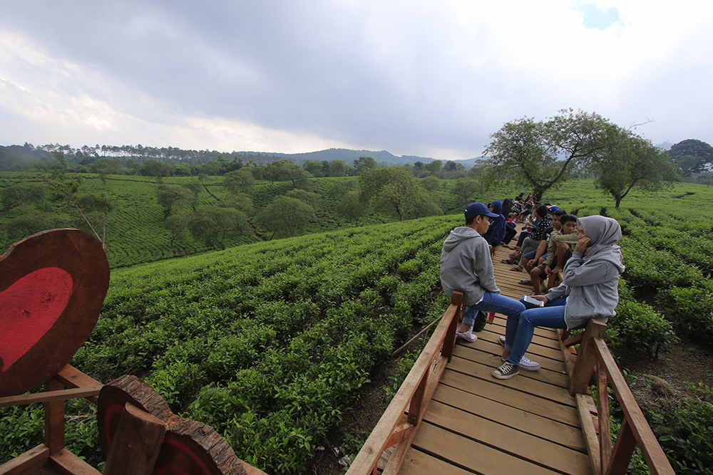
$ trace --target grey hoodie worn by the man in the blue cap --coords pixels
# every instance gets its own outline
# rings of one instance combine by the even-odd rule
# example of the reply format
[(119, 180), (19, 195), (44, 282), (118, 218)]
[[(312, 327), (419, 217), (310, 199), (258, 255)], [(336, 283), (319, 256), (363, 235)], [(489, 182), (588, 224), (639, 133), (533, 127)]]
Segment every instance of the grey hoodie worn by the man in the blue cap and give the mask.
[(461, 226), (443, 241), (441, 285), (448, 297), (463, 292), (463, 303), (474, 306), (486, 291), (500, 293), (493, 275), (493, 260), (488, 241), (475, 229)]

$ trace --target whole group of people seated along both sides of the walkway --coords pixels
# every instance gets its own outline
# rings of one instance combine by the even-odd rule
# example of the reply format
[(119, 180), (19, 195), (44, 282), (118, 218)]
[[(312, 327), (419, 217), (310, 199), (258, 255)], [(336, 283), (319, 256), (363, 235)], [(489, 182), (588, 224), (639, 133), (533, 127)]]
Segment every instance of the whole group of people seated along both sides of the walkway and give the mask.
[[(538, 221), (530, 223), (532, 227), (520, 243), (518, 259), (515, 261), (518, 256), (515, 254), (511, 256), (514, 262), (508, 263), (522, 263), (523, 267), (530, 268), (528, 284), (533, 283), (533, 298), (543, 306), (528, 303), (525, 297), (517, 301), (501, 295), (493, 273), (492, 256), (496, 246), (503, 242), (506, 230), (502, 228), (508, 227), (505, 218), (508, 214), (503, 214), (503, 209), (509, 209), (507, 202), (512, 206), (509, 199), (491, 202), (487, 207), (479, 202), (469, 204), (465, 210), (466, 225), (451, 231), (441, 251), (443, 291), (449, 297), (453, 291), (463, 292), (466, 306), (463, 321), (456, 330), (458, 338), (468, 343), (477, 340), (473, 323), (478, 311), (507, 317), (505, 336), (498, 338), (505, 347), (502, 365), (493, 371), (493, 376), (501, 380), (518, 375), (520, 369), (540, 369), (538, 362), (525, 357), (535, 327), (573, 330), (583, 328), (590, 318), (607, 321), (614, 316), (619, 302), (619, 276), (624, 271), (622, 254), (616, 244), (622, 235), (621, 227), (615, 219), (577, 218), (558, 213), (557, 207), (548, 209), (542, 205), (535, 209)], [(543, 257), (544, 261), (540, 262)], [(542, 295), (540, 276), (560, 272), (563, 282)]]

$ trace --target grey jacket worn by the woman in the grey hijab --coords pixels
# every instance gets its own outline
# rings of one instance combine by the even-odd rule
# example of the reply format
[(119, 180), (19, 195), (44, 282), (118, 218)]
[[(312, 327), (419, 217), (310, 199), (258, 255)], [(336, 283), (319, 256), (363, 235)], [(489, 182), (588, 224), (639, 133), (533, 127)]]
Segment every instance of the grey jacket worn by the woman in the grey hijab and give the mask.
[(616, 315), (619, 303), (619, 275), (624, 271), (618, 247), (600, 251), (591, 259), (575, 252), (563, 271), (564, 282), (545, 296), (568, 297), (565, 306), (567, 328), (577, 328), (589, 318), (607, 321)]

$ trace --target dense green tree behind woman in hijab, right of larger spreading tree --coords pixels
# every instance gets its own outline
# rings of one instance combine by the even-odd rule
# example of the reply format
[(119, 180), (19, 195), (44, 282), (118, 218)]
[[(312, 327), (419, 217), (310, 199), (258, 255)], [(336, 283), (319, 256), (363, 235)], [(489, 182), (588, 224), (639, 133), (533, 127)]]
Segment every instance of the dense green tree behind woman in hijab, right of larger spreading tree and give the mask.
[(614, 198), (617, 208), (633, 188), (656, 192), (678, 179), (669, 155), (615, 125), (592, 167), (597, 174), (595, 182)]

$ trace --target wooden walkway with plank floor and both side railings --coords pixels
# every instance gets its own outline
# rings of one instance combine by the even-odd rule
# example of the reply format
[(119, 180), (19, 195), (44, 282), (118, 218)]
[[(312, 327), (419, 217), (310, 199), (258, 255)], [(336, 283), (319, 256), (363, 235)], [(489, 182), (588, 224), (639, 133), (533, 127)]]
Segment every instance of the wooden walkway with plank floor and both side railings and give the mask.
[[(496, 282), (503, 295), (520, 298), (533, 288), (518, 283), (524, 272), (501, 263), (509, 252), (496, 251)], [(348, 475), (625, 474), (636, 446), (652, 474), (674, 473), (602, 340), (601, 320), (572, 338), (537, 328), (527, 356), (541, 369), (497, 380), (491, 372), (502, 363), (506, 320), (496, 315), (475, 343), (454, 343), (461, 297), (454, 296)], [(610, 384), (624, 409), (615, 447), (608, 398), (597, 406), (590, 382), (598, 392)]]

